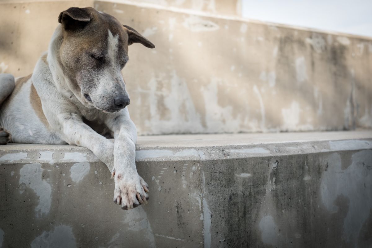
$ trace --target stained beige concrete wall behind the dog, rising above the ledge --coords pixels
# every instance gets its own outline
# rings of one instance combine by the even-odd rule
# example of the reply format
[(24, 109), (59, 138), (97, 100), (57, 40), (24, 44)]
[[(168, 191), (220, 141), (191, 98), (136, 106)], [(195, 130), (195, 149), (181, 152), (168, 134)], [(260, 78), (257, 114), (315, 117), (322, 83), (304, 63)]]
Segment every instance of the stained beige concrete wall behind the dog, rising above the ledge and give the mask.
[(126, 3), (1, 4), (0, 70), (31, 73), (58, 13), (93, 4), (157, 46), (123, 70), (139, 134), (372, 127), (370, 38)]

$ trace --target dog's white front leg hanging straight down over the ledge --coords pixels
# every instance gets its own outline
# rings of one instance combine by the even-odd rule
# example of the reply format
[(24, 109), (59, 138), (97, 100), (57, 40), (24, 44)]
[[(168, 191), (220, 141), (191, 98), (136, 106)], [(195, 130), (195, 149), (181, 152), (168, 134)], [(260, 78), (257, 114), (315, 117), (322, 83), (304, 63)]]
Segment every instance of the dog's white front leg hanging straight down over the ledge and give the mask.
[(135, 165), (135, 143), (137, 131), (129, 118), (127, 109), (121, 115), (106, 124), (114, 131), (114, 168), (115, 180), (114, 202), (122, 209), (131, 209), (147, 203), (148, 184), (138, 175)]

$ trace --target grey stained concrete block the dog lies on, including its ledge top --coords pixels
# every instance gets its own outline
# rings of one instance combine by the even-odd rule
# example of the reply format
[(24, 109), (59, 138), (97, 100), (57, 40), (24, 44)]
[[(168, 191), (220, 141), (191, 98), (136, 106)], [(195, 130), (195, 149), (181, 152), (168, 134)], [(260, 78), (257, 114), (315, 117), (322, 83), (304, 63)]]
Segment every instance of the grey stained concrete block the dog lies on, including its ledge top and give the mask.
[(136, 160), (125, 211), (87, 149), (1, 147), (0, 247), (371, 247), (371, 131), (140, 137)]

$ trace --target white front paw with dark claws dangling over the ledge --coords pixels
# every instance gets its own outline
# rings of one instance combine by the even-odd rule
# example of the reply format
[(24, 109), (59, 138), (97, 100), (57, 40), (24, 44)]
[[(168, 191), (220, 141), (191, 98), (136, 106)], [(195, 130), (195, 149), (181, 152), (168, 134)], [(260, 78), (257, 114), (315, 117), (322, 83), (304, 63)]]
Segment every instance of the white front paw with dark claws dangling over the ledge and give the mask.
[(132, 209), (147, 204), (148, 184), (137, 173), (113, 171), (115, 180), (114, 202), (122, 209)]

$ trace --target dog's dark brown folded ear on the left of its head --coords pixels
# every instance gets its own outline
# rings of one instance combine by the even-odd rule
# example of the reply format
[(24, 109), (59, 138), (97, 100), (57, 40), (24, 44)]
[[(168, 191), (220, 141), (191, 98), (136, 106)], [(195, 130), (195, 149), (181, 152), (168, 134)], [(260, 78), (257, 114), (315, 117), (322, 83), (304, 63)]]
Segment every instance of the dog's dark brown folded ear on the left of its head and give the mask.
[(58, 22), (66, 30), (84, 28), (90, 19), (92, 19), (92, 14), (87, 8), (77, 7), (71, 7), (68, 10), (62, 11), (60, 16), (58, 16)]

